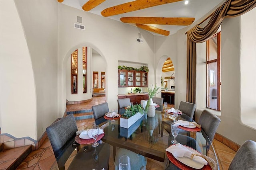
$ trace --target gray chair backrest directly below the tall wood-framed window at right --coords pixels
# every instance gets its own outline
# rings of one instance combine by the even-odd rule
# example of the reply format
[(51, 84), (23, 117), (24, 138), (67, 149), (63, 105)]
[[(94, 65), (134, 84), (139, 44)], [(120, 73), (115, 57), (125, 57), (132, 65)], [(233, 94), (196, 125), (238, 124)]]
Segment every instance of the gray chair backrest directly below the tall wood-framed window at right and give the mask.
[(202, 112), (198, 123), (201, 125), (201, 128), (204, 130), (204, 132), (212, 142), (213, 137), (220, 124), (220, 118), (205, 109)]

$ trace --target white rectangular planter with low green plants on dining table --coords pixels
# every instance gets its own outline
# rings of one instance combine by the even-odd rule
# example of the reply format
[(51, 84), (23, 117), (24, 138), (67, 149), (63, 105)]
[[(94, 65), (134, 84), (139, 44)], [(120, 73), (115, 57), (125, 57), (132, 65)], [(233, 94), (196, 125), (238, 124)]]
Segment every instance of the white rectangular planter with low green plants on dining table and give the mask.
[(129, 128), (140, 117), (144, 115), (144, 109), (140, 104), (131, 105), (126, 108), (124, 114), (120, 118), (120, 127)]

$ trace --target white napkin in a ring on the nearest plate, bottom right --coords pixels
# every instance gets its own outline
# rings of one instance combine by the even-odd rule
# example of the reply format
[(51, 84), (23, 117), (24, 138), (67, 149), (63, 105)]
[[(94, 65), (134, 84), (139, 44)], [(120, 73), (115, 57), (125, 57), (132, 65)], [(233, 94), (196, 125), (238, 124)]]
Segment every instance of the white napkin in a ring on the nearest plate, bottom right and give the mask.
[[(188, 157), (188, 158), (191, 158), (191, 154), (193, 153), (190, 150), (188, 150), (186, 147), (181, 145), (180, 143), (170, 146), (169, 148), (166, 149), (166, 151), (172, 153), (172, 155), (175, 157)], [(199, 154), (197, 152), (195, 152), (195, 153)], [(201, 164), (204, 164), (204, 165), (208, 164), (208, 162), (200, 156), (194, 155), (192, 160), (199, 162)]]

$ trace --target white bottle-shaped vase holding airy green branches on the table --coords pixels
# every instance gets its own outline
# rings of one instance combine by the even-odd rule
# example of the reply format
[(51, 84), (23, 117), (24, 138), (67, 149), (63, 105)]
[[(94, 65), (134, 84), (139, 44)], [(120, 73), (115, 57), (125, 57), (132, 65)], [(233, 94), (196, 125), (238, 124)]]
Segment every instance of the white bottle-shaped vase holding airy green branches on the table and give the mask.
[(148, 103), (147, 103), (147, 106), (146, 106), (146, 111), (147, 111), (147, 114), (148, 114), (148, 117), (154, 117), (155, 114), (156, 114), (156, 108), (154, 106), (154, 103), (153, 103), (153, 97), (158, 94), (158, 90), (159, 90), (160, 87), (154, 86), (153, 88), (153, 84), (150, 85), (148, 87), (148, 96), (149, 96), (149, 100), (148, 100)]

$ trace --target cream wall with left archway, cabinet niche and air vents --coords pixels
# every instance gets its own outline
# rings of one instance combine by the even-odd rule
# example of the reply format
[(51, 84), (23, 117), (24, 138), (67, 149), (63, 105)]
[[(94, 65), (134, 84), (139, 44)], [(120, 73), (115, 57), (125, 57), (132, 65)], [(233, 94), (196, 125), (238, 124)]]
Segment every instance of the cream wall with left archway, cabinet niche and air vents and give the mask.
[[(83, 17), (84, 31), (74, 28), (77, 16)], [(58, 71), (62, 74), (58, 84), (60, 113), (66, 108), (66, 60), (71, 51), (82, 45), (92, 47), (106, 60), (106, 100), (109, 109), (118, 108), (118, 60), (147, 63), (149, 70), (154, 70), (154, 36), (147, 31), (63, 4), (59, 4), (59, 23)], [(138, 33), (142, 34), (144, 43), (136, 41)], [(154, 82), (154, 74), (150, 75), (148, 81), (149, 84)]]

